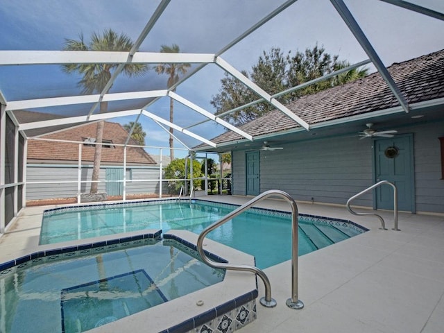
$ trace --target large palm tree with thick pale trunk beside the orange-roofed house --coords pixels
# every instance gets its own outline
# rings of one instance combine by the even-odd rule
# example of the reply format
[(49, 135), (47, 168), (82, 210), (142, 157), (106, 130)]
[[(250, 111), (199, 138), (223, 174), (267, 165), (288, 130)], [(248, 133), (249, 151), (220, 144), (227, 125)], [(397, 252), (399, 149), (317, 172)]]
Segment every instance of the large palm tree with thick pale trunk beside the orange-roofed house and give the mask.
[[(65, 51), (130, 51), (134, 43), (130, 37), (121, 33), (118, 35), (111, 29), (103, 31), (103, 35), (92, 33), (91, 41), (87, 44), (80, 34), (80, 40), (65, 39)], [(82, 87), (82, 94), (93, 94), (103, 92), (109, 82), (112, 71), (119, 64), (69, 64), (62, 65), (63, 70), (68, 74), (80, 74), (83, 76), (78, 81), (78, 86)], [(142, 76), (148, 67), (144, 64), (126, 64), (123, 67), (123, 74), (126, 76)], [(100, 103), (100, 112), (108, 111), (108, 102)], [(97, 123), (96, 148), (94, 151), (94, 166), (92, 169), (92, 183), (90, 193), (97, 193), (100, 172), (100, 162), (102, 156), (103, 127), (105, 121)]]

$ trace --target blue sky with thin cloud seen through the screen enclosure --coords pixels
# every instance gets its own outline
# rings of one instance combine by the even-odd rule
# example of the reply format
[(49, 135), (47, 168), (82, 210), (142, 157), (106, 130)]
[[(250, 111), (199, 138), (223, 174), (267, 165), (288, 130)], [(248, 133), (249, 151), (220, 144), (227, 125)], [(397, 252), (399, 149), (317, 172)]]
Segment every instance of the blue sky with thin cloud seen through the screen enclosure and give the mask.
[[(160, 1), (144, 0), (0, 0), (0, 50), (60, 50), (65, 39), (85, 40), (107, 28), (126, 33), (135, 41)], [(163, 44), (178, 44), (185, 53), (216, 53), (250, 28), (283, 1), (268, 0), (172, 0), (142, 43), (139, 51), (157, 52)], [(444, 49), (444, 22), (379, 0), (344, 0), (384, 65), (401, 62)], [(414, 2), (411, 0), (411, 2)], [(416, 0), (444, 12), (443, 0)], [(221, 58), (237, 69), (249, 71), (263, 51), (304, 51), (320, 45), (330, 54), (350, 63), (368, 58), (328, 0), (298, 0), (270, 22), (225, 51)], [(375, 70), (369, 67), (370, 71)], [(219, 92), (223, 71), (207, 65), (185, 80), (177, 93), (214, 113), (210, 101)], [(8, 101), (79, 94), (78, 76), (65, 74), (58, 65), (0, 67), (0, 90)], [(148, 71), (143, 78), (119, 77), (110, 92), (165, 89), (167, 76)], [(110, 103), (113, 110), (142, 107), (146, 101)], [(85, 114), (91, 105), (71, 108), (35, 109), (67, 115)], [(169, 99), (160, 99), (147, 109), (167, 119)], [(187, 127), (205, 118), (175, 103), (175, 122)], [(112, 119), (119, 123), (135, 117)], [(166, 131), (151, 119), (141, 117), (147, 133), (146, 144), (168, 146)], [(212, 121), (189, 128), (211, 139), (224, 129)], [(182, 133), (178, 138), (188, 146), (200, 142)], [(176, 147), (183, 148), (180, 142)]]

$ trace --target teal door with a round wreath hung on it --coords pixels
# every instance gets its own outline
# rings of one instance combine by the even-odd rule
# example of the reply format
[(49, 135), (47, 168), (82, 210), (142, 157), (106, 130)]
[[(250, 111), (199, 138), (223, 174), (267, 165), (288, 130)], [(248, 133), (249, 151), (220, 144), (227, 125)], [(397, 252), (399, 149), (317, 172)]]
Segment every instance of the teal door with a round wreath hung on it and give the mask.
[[(375, 140), (375, 180), (388, 180), (398, 188), (398, 210), (415, 212), (413, 135)], [(375, 191), (376, 209), (393, 210), (393, 188), (382, 185)]]

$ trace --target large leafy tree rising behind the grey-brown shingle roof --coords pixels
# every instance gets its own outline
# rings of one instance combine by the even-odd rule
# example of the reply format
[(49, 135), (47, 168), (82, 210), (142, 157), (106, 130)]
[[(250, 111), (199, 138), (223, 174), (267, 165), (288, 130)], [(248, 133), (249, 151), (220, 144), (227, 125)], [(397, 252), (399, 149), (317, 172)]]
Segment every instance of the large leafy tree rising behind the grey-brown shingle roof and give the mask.
[[(339, 61), (338, 58), (338, 56), (331, 56), (329, 53), (325, 53), (325, 49), (317, 44), (312, 49), (306, 49), (305, 52), (297, 51), (292, 54), (289, 51), (287, 55), (279, 48), (273, 47), (268, 53), (263, 51), (262, 56), (259, 56), (257, 64), (253, 65), (250, 73), (242, 71), (242, 74), (250, 78), (268, 94), (273, 95), (350, 65), (346, 61)], [(323, 80), (296, 90), (296, 92), (284, 94), (278, 100), (283, 104), (287, 104), (300, 96), (314, 94), (323, 89), (348, 83), (366, 75), (367, 69), (352, 69), (336, 78)], [(216, 96), (212, 97), (210, 103), (216, 108), (216, 114), (223, 114), (228, 110), (257, 99), (258, 96), (255, 93), (240, 83), (239, 80), (225, 73), (225, 77), (221, 80), (221, 89), (219, 89), (219, 93)], [(243, 110), (225, 114), (223, 119), (235, 125), (241, 125), (266, 114), (266, 112), (273, 110), (273, 108), (272, 105), (261, 102)]]

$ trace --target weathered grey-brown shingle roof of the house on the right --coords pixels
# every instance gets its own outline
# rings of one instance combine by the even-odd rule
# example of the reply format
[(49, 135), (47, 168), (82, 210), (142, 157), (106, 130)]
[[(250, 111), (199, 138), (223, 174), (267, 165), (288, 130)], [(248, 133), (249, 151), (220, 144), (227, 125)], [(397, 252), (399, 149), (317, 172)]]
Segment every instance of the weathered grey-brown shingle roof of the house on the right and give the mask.
[[(388, 67), (388, 71), (407, 99), (407, 103), (444, 97), (444, 50), (394, 63)], [(385, 110), (398, 105), (400, 103), (384, 79), (376, 72), (352, 83), (302, 96), (286, 106), (307, 123), (315, 124)], [(272, 110), (239, 128), (255, 137), (298, 127), (300, 127), (298, 123), (284, 113)], [(217, 144), (239, 139), (244, 137), (228, 131), (212, 139), (212, 142)]]

